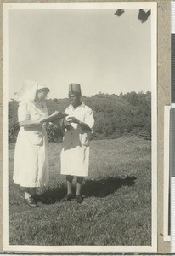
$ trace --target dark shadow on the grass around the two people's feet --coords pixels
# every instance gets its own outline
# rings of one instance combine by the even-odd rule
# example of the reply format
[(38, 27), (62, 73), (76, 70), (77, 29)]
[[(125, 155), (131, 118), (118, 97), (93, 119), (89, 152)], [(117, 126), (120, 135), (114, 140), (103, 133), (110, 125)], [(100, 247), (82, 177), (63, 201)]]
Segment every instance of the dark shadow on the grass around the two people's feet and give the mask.
[[(108, 177), (99, 180), (87, 180), (82, 186), (82, 195), (85, 197), (96, 196), (105, 197), (114, 193), (122, 186), (134, 186), (135, 176), (132, 177)], [(74, 188), (75, 190), (75, 188)], [(53, 204), (56, 201), (61, 201), (66, 195), (65, 184), (62, 184), (58, 188), (48, 189), (45, 191), (38, 201), (42, 201), (45, 204)]]

